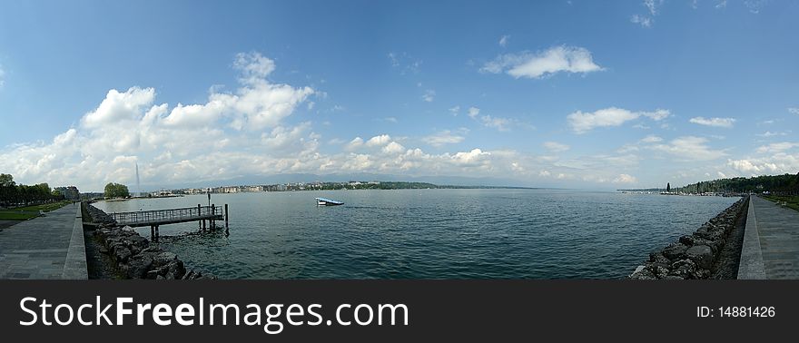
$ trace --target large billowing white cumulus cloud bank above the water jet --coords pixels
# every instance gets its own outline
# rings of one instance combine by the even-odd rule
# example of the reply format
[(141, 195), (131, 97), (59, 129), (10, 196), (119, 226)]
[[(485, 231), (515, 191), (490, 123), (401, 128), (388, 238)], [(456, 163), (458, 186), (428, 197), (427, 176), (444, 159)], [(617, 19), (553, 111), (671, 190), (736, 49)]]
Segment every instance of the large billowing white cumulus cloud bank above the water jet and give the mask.
[(240, 88), (235, 93), (212, 88), (207, 103), (170, 108), (155, 103), (153, 88), (112, 89), (77, 127), (52, 142), (0, 151), (0, 170), (21, 182), (76, 184), (96, 191), (109, 181), (133, 181), (136, 162), (145, 184), (303, 167), (301, 159), (315, 153), (320, 136), (311, 132), (309, 122), (291, 125), (283, 119), (313, 90), (268, 81), (275, 65), (261, 54), (237, 54), (233, 68)]

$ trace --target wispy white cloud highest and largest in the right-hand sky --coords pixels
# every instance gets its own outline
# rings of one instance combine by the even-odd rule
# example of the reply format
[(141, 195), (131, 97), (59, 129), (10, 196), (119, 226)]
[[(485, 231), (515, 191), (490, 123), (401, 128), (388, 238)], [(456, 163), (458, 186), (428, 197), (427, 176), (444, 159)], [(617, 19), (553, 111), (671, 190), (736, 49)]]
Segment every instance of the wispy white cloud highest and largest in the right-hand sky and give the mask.
[(540, 78), (555, 73), (591, 73), (601, 71), (591, 52), (576, 46), (554, 46), (537, 54), (499, 55), (480, 68), (482, 73), (508, 73), (515, 78)]

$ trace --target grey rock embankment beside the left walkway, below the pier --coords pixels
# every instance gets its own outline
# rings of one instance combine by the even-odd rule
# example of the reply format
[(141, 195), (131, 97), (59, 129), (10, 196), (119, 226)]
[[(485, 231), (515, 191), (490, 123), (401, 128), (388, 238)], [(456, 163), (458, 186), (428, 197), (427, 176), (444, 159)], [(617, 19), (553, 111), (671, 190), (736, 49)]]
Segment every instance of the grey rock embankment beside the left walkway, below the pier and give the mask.
[(120, 227), (104, 211), (88, 205), (86, 210), (96, 226), (94, 237), (100, 253), (108, 255), (125, 279), (216, 279), (196, 270), (186, 270), (182, 260), (169, 251), (151, 245), (129, 226)]

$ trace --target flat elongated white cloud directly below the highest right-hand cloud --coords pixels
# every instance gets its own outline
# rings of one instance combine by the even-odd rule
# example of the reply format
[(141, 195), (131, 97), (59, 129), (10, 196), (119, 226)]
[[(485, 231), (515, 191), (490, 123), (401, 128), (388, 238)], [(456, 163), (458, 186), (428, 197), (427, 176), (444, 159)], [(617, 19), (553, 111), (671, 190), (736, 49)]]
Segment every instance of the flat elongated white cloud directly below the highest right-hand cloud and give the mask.
[(577, 111), (567, 115), (567, 122), (577, 134), (589, 132), (597, 127), (620, 126), (625, 122), (645, 116), (654, 121), (661, 121), (671, 113), (668, 110), (657, 109), (654, 112), (632, 112), (623, 108), (609, 107), (593, 113)]

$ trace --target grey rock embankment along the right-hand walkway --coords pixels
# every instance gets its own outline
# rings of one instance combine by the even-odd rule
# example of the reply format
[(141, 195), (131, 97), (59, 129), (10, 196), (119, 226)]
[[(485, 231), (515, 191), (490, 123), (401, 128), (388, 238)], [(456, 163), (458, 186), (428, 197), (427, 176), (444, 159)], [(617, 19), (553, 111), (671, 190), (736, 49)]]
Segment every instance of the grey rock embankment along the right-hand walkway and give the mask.
[[(666, 248), (649, 254), (629, 279), (716, 279), (725, 274), (731, 259), (740, 258), (735, 239), (743, 233), (748, 197), (735, 201), (725, 211), (708, 220), (694, 233), (682, 236)], [(741, 235), (742, 236), (742, 235)], [(736, 251), (736, 253), (730, 253)], [(737, 269), (737, 260), (732, 263)]]

